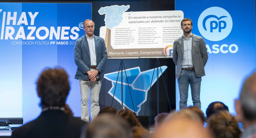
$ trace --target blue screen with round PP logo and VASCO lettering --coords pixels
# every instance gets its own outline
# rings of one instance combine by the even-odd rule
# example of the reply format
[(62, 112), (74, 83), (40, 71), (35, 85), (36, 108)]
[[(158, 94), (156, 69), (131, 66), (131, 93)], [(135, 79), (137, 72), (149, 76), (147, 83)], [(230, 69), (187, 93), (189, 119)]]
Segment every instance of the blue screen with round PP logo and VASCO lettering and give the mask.
[[(232, 114), (244, 78), (256, 68), (255, 0), (176, 0), (175, 10), (193, 22), (192, 33), (204, 38), (208, 49), (202, 77), (202, 111), (222, 101)], [(192, 105), (189, 90), (189, 102)], [(176, 106), (179, 90), (176, 82)]]

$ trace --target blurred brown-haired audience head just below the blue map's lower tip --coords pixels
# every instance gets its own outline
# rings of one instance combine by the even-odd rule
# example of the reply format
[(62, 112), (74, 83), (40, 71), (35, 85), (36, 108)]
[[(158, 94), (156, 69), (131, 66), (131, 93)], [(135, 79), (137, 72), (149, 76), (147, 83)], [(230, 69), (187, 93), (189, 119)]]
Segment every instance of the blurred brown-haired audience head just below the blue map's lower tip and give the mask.
[(142, 127), (142, 125), (140, 124), (138, 119), (135, 117), (134, 113), (128, 109), (125, 109), (125, 110), (120, 109), (116, 112), (116, 115), (127, 120), (132, 127), (134, 127), (134, 126)]

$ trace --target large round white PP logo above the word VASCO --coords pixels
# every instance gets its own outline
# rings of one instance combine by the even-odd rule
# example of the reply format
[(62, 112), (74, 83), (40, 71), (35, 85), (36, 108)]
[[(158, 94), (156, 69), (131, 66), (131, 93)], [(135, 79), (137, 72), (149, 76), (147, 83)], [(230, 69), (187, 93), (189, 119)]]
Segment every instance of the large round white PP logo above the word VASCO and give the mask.
[(230, 14), (223, 8), (210, 7), (198, 18), (198, 30), (210, 41), (226, 38), (232, 30), (233, 22)]

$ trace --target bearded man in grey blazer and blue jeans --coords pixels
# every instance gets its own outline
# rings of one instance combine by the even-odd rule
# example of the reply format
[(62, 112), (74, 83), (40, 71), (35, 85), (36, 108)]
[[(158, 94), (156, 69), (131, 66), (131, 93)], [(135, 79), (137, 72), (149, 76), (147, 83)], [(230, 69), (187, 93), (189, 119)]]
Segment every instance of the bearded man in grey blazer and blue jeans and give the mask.
[(202, 37), (192, 34), (192, 20), (181, 21), (183, 35), (173, 43), (173, 61), (180, 91), (180, 109), (187, 106), (188, 86), (191, 88), (193, 106), (201, 108), (201, 77), (205, 75), (204, 66), (208, 59), (206, 44)]

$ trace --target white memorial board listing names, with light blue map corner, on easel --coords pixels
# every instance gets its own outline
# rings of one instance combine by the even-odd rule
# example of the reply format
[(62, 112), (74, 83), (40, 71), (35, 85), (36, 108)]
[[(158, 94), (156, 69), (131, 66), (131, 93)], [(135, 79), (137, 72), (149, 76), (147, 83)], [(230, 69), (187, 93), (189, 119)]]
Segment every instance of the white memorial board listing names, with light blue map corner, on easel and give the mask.
[(105, 39), (108, 57), (172, 57), (172, 44), (182, 35), (183, 12), (125, 12), (129, 8), (113, 5), (98, 10), (105, 15), (100, 37)]

